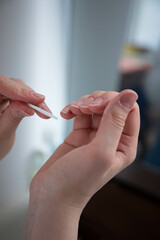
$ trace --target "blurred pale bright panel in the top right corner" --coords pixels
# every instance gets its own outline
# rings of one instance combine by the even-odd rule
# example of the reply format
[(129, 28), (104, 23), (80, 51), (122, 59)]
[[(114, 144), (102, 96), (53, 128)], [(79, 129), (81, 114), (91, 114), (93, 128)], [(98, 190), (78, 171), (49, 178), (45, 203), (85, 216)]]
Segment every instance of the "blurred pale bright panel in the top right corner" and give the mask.
[(134, 0), (128, 41), (157, 51), (160, 46), (160, 1)]

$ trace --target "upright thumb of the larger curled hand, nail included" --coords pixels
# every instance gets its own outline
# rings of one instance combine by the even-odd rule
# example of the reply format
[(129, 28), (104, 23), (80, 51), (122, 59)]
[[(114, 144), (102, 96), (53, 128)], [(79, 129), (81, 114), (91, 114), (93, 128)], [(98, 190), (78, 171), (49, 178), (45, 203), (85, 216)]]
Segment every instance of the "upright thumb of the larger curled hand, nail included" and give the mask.
[(96, 136), (102, 155), (109, 153), (110, 159), (115, 155), (126, 119), (137, 98), (134, 91), (124, 90), (106, 107)]

